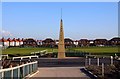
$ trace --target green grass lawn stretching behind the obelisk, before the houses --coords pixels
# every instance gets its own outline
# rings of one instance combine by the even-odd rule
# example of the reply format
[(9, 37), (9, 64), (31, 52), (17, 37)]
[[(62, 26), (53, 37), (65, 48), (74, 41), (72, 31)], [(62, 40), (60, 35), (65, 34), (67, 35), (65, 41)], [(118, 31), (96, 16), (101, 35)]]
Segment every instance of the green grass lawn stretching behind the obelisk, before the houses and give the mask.
[[(38, 52), (42, 50), (47, 50), (47, 52), (57, 52), (57, 48), (19, 48), (12, 47), (2, 50), (2, 54), (20, 54), (29, 55), (31, 52)], [(89, 53), (120, 53), (118, 47), (77, 47), (68, 48), (66, 51), (79, 51), (79, 52), (89, 52)]]

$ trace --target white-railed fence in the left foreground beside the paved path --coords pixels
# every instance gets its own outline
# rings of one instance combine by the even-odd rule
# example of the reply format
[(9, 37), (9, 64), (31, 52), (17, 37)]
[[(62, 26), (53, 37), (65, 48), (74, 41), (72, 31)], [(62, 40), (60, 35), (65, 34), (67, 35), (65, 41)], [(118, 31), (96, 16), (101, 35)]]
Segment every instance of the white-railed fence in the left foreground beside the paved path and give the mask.
[(0, 70), (0, 79), (22, 79), (37, 71), (38, 62), (30, 62)]

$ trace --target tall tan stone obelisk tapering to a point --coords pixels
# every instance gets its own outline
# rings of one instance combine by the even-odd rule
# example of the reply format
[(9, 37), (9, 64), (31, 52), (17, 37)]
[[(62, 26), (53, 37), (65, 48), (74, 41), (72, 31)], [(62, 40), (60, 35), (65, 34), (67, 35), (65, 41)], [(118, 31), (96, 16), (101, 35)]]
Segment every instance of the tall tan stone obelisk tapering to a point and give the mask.
[(58, 58), (65, 58), (64, 31), (63, 31), (63, 21), (62, 21), (62, 18), (61, 18), (61, 21), (60, 21)]

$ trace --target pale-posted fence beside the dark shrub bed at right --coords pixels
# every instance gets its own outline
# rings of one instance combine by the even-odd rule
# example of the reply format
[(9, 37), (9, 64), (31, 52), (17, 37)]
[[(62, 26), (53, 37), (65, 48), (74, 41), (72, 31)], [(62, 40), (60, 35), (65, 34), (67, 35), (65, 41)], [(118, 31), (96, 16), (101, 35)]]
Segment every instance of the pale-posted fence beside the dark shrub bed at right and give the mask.
[[(101, 70), (102, 74), (101, 75), (102, 75), (102, 77), (104, 77), (105, 64), (113, 66), (114, 65), (113, 62), (114, 62), (113, 56), (86, 55), (85, 66), (87, 67), (87, 66), (90, 66), (90, 65), (96, 65), (96, 66), (100, 67), (100, 64), (101, 64), (101, 68), (102, 68), (102, 70)], [(94, 66), (94, 68), (95, 68), (95, 66)], [(97, 71), (97, 72), (99, 72), (99, 71)]]

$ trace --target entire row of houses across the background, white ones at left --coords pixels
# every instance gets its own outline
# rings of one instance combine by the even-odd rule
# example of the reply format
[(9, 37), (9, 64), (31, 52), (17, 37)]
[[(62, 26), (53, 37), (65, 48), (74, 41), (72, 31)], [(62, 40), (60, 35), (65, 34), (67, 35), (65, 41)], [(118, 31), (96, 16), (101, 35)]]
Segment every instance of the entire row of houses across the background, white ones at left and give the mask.
[[(107, 39), (80, 39), (80, 40), (72, 40), (70, 38), (65, 38), (65, 47), (82, 47), (82, 46), (117, 46), (120, 45), (120, 38), (115, 37), (110, 40)], [(47, 38), (45, 40), (35, 40), (32, 38), (28, 39), (0, 39), (0, 46), (43, 46), (43, 47), (57, 47), (59, 40), (53, 40), (51, 38)]]

